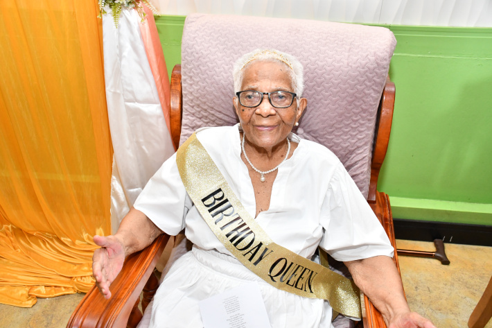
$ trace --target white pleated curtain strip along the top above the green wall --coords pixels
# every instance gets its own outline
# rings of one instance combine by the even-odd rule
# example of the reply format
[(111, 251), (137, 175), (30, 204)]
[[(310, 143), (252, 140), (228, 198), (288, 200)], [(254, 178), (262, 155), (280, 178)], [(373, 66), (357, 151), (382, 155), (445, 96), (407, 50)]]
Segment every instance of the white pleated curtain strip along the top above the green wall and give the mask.
[(420, 26), (492, 26), (491, 0), (152, 0), (162, 15), (204, 12)]

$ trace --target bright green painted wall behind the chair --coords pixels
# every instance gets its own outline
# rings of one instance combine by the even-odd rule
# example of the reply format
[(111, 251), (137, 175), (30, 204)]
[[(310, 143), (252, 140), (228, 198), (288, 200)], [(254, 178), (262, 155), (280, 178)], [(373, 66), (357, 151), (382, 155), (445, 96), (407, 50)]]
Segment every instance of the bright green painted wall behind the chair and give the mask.
[[(184, 18), (155, 17), (169, 75)], [(492, 28), (385, 27), (396, 103), (378, 189), (395, 218), (492, 225)]]

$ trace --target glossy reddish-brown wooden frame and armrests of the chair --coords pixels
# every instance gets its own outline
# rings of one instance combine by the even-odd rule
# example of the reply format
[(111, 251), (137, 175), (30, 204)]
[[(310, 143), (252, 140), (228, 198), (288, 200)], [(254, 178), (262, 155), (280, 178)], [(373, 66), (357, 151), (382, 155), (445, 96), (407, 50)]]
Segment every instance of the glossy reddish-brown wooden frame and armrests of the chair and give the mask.
[[(389, 132), (391, 131), (395, 87), (387, 78), (383, 95), (378, 108), (376, 133), (371, 164), (371, 180), (368, 202), (379, 221), (385, 228), (389, 240), (395, 247), (393, 218), (388, 196), (377, 191), (378, 175), (385, 159)], [(182, 121), (182, 85), (181, 65), (176, 65), (171, 76), (170, 89), (170, 128), (171, 138), (175, 148), (179, 146)], [(153, 275), (155, 264), (168, 243), (169, 236), (159, 236), (148, 248), (130, 255), (111, 285), (112, 297), (105, 300), (94, 285), (85, 295), (73, 312), (67, 327), (135, 327), (141, 320), (138, 309), (140, 295), (143, 292), (142, 307), (145, 309), (148, 302), (157, 290), (157, 278)], [(398, 256), (394, 254), (394, 262), (398, 265)], [(149, 279), (150, 278), (150, 279)], [(365, 328), (384, 328), (383, 316), (364, 295), (365, 313), (363, 325)]]

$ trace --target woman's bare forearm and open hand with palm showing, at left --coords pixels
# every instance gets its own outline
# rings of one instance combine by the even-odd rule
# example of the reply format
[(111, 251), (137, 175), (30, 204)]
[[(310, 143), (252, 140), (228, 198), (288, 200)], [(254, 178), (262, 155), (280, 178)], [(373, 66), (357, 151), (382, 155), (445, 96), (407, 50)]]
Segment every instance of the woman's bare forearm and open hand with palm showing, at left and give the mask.
[(159, 234), (162, 231), (145, 214), (132, 208), (116, 234), (94, 236), (94, 243), (101, 248), (92, 257), (92, 272), (96, 286), (106, 299), (111, 297), (109, 286), (123, 268), (125, 257), (146, 248)]

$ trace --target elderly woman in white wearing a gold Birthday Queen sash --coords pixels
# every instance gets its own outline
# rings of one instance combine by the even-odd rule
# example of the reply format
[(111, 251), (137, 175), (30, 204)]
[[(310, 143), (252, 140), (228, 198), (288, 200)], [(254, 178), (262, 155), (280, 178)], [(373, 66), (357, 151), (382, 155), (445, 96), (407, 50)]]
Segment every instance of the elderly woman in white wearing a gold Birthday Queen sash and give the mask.
[[(300, 62), (286, 53), (258, 50), (240, 58), (233, 75), (240, 123), (195, 132), (148, 182), (118, 232), (94, 236), (101, 246), (93, 264), (100, 292), (111, 297), (109, 285), (125, 256), (163, 232), (176, 235), (185, 229), (193, 249), (173, 264), (159, 286), (150, 327), (203, 327), (198, 303), (246, 282), (258, 283), (272, 327), (332, 327), (331, 305), (323, 299), (329, 297), (298, 295), (316, 288), (318, 271), (301, 263), (318, 247), (344, 261), (389, 328), (434, 327), (410, 312), (393, 248), (340, 160), (292, 133), (307, 104), (301, 98)], [(195, 194), (201, 181), (216, 180), (223, 180), (218, 189)], [(234, 221), (236, 228), (221, 238), (220, 230), (227, 231)], [(263, 232), (276, 245), (255, 245)], [(284, 257), (270, 262), (268, 277), (262, 279), (256, 267), (276, 259), (274, 250), (289, 254), (285, 263)], [(287, 280), (290, 256), (295, 258), (291, 264), (299, 263), (289, 273), (297, 277), (292, 286), (299, 293), (268, 283)]]

